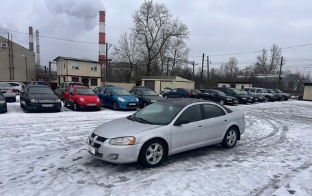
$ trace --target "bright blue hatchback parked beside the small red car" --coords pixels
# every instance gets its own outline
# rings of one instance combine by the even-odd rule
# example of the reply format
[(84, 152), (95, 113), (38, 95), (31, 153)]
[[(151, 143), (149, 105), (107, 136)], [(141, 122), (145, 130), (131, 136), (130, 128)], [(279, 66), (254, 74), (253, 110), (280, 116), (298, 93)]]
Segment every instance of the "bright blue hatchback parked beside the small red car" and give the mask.
[(100, 87), (96, 91), (101, 103), (105, 107), (118, 109), (137, 109), (139, 100), (132, 96), (126, 89), (120, 87)]

